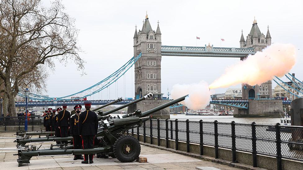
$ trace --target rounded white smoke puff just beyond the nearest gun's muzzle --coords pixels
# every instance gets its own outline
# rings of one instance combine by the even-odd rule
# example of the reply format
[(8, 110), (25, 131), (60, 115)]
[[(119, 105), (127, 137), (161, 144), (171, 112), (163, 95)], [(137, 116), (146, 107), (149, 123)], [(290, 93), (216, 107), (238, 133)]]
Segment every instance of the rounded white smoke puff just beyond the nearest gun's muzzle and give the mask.
[(207, 83), (200, 81), (199, 83), (188, 85), (174, 85), (171, 91), (171, 97), (177, 99), (189, 94), (181, 104), (192, 110), (198, 110), (205, 108), (209, 104), (212, 93), (213, 91), (209, 90)]

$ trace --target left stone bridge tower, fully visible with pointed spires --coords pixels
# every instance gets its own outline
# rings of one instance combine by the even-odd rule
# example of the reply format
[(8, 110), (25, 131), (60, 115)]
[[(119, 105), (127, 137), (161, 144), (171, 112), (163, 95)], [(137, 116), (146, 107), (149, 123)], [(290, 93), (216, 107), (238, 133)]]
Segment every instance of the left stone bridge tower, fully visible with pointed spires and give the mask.
[(135, 98), (141, 98), (145, 94), (152, 93), (155, 98), (162, 98), (161, 93), (161, 31), (152, 30), (146, 14), (142, 30), (133, 36), (134, 56), (142, 53), (135, 63)]

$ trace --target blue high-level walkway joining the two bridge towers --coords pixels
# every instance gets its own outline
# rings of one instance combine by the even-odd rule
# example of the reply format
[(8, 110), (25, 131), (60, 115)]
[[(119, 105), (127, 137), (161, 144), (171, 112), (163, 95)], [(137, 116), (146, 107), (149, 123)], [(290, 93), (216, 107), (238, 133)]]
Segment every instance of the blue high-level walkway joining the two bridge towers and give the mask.
[(162, 56), (192, 56), (192, 57), (232, 57), (242, 58), (255, 54), (253, 48), (225, 48), (225, 47), (188, 47), (161, 46)]

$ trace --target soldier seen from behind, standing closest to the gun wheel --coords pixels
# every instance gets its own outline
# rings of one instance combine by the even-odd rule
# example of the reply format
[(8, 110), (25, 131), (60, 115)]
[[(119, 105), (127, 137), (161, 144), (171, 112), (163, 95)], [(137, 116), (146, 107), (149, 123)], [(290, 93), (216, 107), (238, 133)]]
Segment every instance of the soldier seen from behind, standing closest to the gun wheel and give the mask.
[[(98, 130), (98, 118), (97, 114), (90, 110), (92, 102), (84, 102), (85, 111), (81, 112), (79, 116), (79, 132), (82, 135), (83, 149), (94, 148), (94, 137)], [(84, 154), (84, 161), (81, 163), (93, 163), (93, 154)]]

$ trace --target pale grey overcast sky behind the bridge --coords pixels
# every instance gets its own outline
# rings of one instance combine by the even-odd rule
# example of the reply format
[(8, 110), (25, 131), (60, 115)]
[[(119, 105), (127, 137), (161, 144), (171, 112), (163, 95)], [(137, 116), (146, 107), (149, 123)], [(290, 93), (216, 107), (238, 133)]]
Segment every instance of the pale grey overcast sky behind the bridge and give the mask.
[[(49, 0), (44, 3), (49, 4)], [(254, 16), (260, 31), (266, 35), (267, 25), (272, 43), (292, 43), (298, 51), (291, 72), (303, 80), (302, 39), (303, 1), (83, 1), (64, 0), (66, 12), (75, 18), (79, 29), (79, 45), (85, 51), (80, 56), (87, 62), (86, 75), (81, 76), (73, 63), (64, 66), (56, 62), (47, 80), (50, 97), (61, 97), (83, 90), (109, 76), (133, 56), (135, 25), (142, 28), (146, 11), (152, 29), (160, 22), (162, 45), (197, 46), (210, 43), (215, 47), (240, 47), (241, 30), (246, 39)], [(224, 42), (220, 44), (220, 38)], [(299, 50), (300, 49), (300, 50)], [(161, 92), (174, 84), (209, 84), (218, 78), (237, 58), (202, 58), (163, 56), (161, 62)], [(279, 69), (279, 68), (277, 68)], [(133, 69), (132, 69), (133, 70)], [(239, 70), (241, 71), (241, 70)], [(134, 75), (125, 75), (125, 97), (134, 97)], [(235, 75), (236, 76), (236, 75)], [(66, 80), (69, 83), (60, 83)], [(231, 88), (241, 88), (241, 85)], [(274, 88), (274, 85), (273, 85)], [(116, 90), (118, 89), (118, 90)], [(227, 88), (216, 89), (224, 93)], [(123, 77), (90, 99), (124, 97)]]

